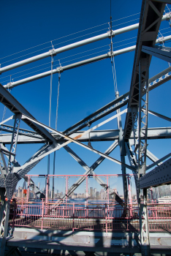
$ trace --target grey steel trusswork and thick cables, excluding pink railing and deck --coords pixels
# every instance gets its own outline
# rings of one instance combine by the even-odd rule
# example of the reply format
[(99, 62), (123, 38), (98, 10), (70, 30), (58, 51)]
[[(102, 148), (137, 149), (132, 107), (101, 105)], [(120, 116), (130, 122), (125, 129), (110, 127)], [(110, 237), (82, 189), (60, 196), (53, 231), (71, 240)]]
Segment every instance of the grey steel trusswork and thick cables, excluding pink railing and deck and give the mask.
[[(161, 20), (170, 20), (170, 13), (163, 15), (164, 12), (164, 1), (158, 0), (143, 0), (142, 1), (142, 10), (140, 14), (140, 24), (134, 24), (134, 26), (128, 26), (123, 29), (118, 29), (116, 31), (110, 31), (105, 34), (102, 34), (97, 37), (86, 39), (72, 45), (66, 45), (64, 48), (53, 49), (49, 53), (43, 53), (44, 55), (35, 56), (31, 59), (26, 59), (25, 61), (19, 61), (17, 64), (12, 64), (7, 67), (1, 68), (0, 72), (6, 72), (7, 70), (14, 69), (15, 67), (20, 67), (23, 64), (27, 64), (39, 59), (43, 59), (47, 56), (55, 56), (56, 53), (61, 53), (72, 48), (77, 48), (81, 45), (86, 45), (91, 42), (96, 42), (100, 39), (107, 37), (114, 37), (117, 34), (121, 34), (125, 31), (132, 31), (133, 29), (138, 28), (137, 35), (137, 45), (130, 48), (125, 48), (115, 52), (110, 52), (104, 54), (103, 56), (98, 56), (95, 58), (87, 59), (84, 61), (77, 62), (75, 64), (68, 65), (66, 67), (60, 67), (53, 69), (50, 72), (45, 72), (31, 78), (26, 78), (16, 82), (9, 83), (5, 86), (0, 85), (0, 102), (4, 104), (5, 107), (9, 108), (15, 116), (7, 118), (0, 123), (1, 131), (9, 132), (9, 137), (1, 137), (0, 143), (0, 192), (1, 192), (1, 212), (0, 212), (0, 237), (1, 237), (1, 255), (4, 255), (4, 248), (6, 239), (8, 236), (8, 219), (9, 219), (9, 207), (10, 200), (15, 191), (15, 187), (20, 181), (21, 178), (25, 178), (26, 173), (28, 173), (35, 165), (37, 165), (44, 157), (48, 156), (50, 153), (53, 153), (56, 150), (64, 147), (64, 149), (83, 167), (86, 172), (84, 175), (95, 176), (94, 170), (98, 167), (104, 159), (110, 159), (113, 162), (121, 165), (121, 170), (123, 174), (126, 174), (126, 168), (132, 170), (134, 174), (134, 180), (137, 189), (137, 200), (140, 207), (140, 236), (141, 236), (141, 245), (142, 245), (142, 255), (150, 255), (150, 240), (148, 232), (148, 215), (147, 215), (147, 187), (150, 186), (148, 182), (148, 176), (146, 170), (153, 167), (154, 165), (161, 165), (161, 161), (170, 157), (171, 154), (168, 154), (162, 159), (157, 159), (150, 151), (148, 151), (147, 140), (148, 139), (158, 139), (158, 138), (171, 138), (171, 129), (165, 129), (165, 134), (160, 129), (157, 129), (157, 132), (153, 128), (148, 129), (148, 113), (151, 113), (160, 118), (164, 118), (167, 121), (171, 121), (171, 118), (167, 116), (159, 115), (153, 111), (148, 110), (148, 97), (149, 91), (155, 89), (157, 86), (160, 86), (162, 83), (167, 82), (171, 79), (171, 67), (164, 69), (164, 71), (155, 75), (153, 78), (149, 79), (149, 67), (151, 64), (151, 56), (159, 54), (160, 59), (166, 61), (170, 60), (170, 48), (155, 48), (155, 44), (159, 42), (164, 42), (165, 40), (171, 39), (169, 37), (162, 37), (162, 39), (156, 39), (159, 32), (159, 26)], [(132, 81), (130, 91), (126, 94), (123, 94), (119, 97), (118, 91), (116, 92), (116, 98), (113, 102), (108, 103), (104, 107), (96, 110), (90, 116), (83, 118), (83, 120), (77, 122), (77, 124), (72, 125), (64, 132), (58, 132), (56, 129), (52, 129), (45, 124), (40, 123), (31, 116), (28, 111), (23, 108), (23, 106), (18, 102), (12, 95), (7, 91), (7, 88), (12, 88), (23, 83), (28, 83), (32, 80), (37, 80), (39, 78), (45, 78), (47, 75), (52, 75), (58, 72), (64, 72), (67, 69), (72, 69), (75, 67), (80, 67), (85, 64), (99, 61), (102, 59), (111, 58), (112, 56), (117, 56), (122, 53), (135, 50), (134, 57), (134, 66), (132, 71)], [(167, 53), (166, 53), (167, 51)], [(156, 56), (156, 55), (155, 55)], [(123, 111), (120, 110), (121, 107), (126, 106), (127, 108)], [(108, 118), (106, 121), (102, 121), (98, 125), (90, 128), (90, 124), (93, 124), (95, 121), (98, 121), (100, 118), (107, 116), (109, 113), (116, 111), (116, 115), (111, 118)], [(124, 130), (121, 123), (121, 115), (126, 113), (126, 122)], [(11, 127), (5, 124), (6, 121), (14, 118), (14, 126)], [(118, 119), (118, 130), (113, 130), (113, 134), (107, 131), (98, 131), (94, 133), (94, 130), (97, 127), (101, 127), (103, 124), (113, 120), (114, 118)], [(31, 129), (20, 128), (20, 121), (24, 121), (28, 124)], [(86, 132), (81, 132), (80, 129), (88, 126)], [(101, 132), (101, 134), (99, 133)], [(163, 136), (163, 137), (162, 137)], [(104, 153), (97, 151), (91, 146), (86, 146), (83, 144), (85, 141), (99, 141), (99, 140), (114, 140), (113, 144), (107, 148), (107, 151)], [(43, 143), (42, 147), (26, 161), (22, 166), (19, 165), (15, 159), (16, 147), (18, 143)], [(90, 151), (93, 151), (96, 154), (99, 154), (99, 159), (94, 162), (91, 167), (88, 167), (85, 162), (83, 162), (80, 157), (69, 148), (69, 143), (76, 143), (79, 146), (87, 148)], [(10, 143), (10, 150), (8, 151), (4, 144)], [(91, 145), (91, 144), (88, 144)], [(110, 153), (117, 147), (120, 146), (121, 161), (110, 157)], [(6, 164), (4, 154), (7, 156)], [(125, 156), (128, 156), (130, 165), (126, 165)], [(151, 159), (154, 163), (150, 166), (146, 165), (146, 158)], [(166, 170), (167, 171), (167, 170)], [(152, 172), (154, 175), (155, 171)], [(144, 178), (143, 178), (144, 177)], [(121, 200), (118, 195), (113, 193), (112, 189), (108, 187), (108, 184), (104, 184), (104, 181), (101, 178), (96, 178), (96, 181), (104, 188), (109, 189), (110, 194), (113, 194), (113, 198), (120, 203), (121, 206), (126, 206), (127, 199), (127, 183), (126, 178), (123, 176), (123, 189), (124, 189), (124, 198), (125, 202)], [(78, 178), (75, 184), (67, 189), (67, 195), (64, 195), (62, 199), (68, 197), (75, 189), (83, 183), (85, 177)], [(164, 181), (164, 184), (171, 183), (171, 178)], [(29, 184), (36, 187), (34, 181), (29, 180)], [(158, 182), (158, 184), (161, 184)], [(146, 186), (146, 187), (145, 187)], [(153, 186), (153, 185), (152, 185)], [(142, 200), (140, 199), (140, 188), (142, 190)], [(45, 197), (42, 195), (42, 192), (36, 187), (36, 192), (39, 197)], [(129, 195), (130, 197), (130, 195)], [(6, 199), (6, 200), (5, 200)], [(58, 206), (58, 202), (56, 203)]]

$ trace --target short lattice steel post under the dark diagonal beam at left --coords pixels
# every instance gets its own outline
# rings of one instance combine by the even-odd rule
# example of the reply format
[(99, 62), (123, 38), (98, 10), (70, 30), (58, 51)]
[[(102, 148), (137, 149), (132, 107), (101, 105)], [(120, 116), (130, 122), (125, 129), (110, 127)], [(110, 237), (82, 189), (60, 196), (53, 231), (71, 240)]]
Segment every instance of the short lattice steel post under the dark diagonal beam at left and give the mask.
[(12, 140), (11, 140), (11, 146), (10, 146), (10, 153), (14, 154), (13, 161), (11, 161), (11, 154), (9, 154), (9, 159), (8, 159), (8, 171), (9, 173), (13, 172), (13, 167), (15, 163), (15, 152), (17, 149), (17, 143), (18, 143), (18, 132), (20, 128), (20, 114), (15, 115), (15, 122), (14, 122), (14, 129), (12, 131)]

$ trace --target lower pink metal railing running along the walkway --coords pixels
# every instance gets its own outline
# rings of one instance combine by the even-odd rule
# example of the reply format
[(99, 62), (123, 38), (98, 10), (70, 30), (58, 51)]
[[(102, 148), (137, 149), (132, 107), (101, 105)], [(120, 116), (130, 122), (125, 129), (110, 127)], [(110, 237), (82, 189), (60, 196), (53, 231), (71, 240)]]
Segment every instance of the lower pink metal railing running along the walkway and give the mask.
[[(116, 204), (20, 202), (10, 210), (9, 225), (56, 230), (139, 230), (139, 210), (136, 205), (125, 208)], [(170, 204), (148, 205), (151, 231), (171, 230)]]

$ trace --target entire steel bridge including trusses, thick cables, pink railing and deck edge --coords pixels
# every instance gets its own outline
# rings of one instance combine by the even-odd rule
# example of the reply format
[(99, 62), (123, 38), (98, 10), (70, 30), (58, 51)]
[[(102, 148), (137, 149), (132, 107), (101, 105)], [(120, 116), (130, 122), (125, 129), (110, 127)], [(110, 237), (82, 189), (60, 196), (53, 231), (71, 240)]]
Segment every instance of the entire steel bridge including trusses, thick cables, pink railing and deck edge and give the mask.
[[(78, 48), (82, 45), (87, 45), (108, 37), (112, 39), (118, 34), (138, 29), (137, 44), (132, 47), (116, 51), (111, 50), (109, 53), (102, 56), (96, 56), (91, 59), (79, 61), (75, 64), (58, 67), (39, 75), (7, 83), (7, 85), (4, 86), (0, 84), (0, 101), (12, 112), (10, 118), (7, 118), (0, 123), (1, 132), (8, 132), (5, 134), (1, 133), (0, 135), (1, 255), (25, 255), (26, 250), (25, 254), (24, 252), (21, 253), (18, 247), (37, 248), (37, 252), (39, 253), (40, 249), (54, 249), (58, 251), (62, 249), (66, 250), (66, 252), (64, 252), (65, 255), (94, 255), (96, 252), (98, 252), (99, 255), (107, 255), (107, 253), (114, 252), (116, 254), (118, 253), (118, 255), (121, 255), (121, 253), (122, 255), (170, 253), (170, 233), (162, 233), (161, 229), (156, 228), (156, 225), (158, 225), (158, 227), (161, 225), (162, 219), (162, 223), (164, 223), (162, 230), (171, 230), (170, 205), (164, 204), (164, 206), (159, 206), (159, 204), (155, 205), (155, 203), (153, 203), (152, 206), (147, 205), (148, 188), (157, 187), (163, 184), (171, 184), (171, 153), (168, 152), (165, 157), (158, 159), (148, 151), (148, 140), (171, 138), (171, 127), (148, 128), (148, 114), (171, 121), (171, 118), (167, 116), (162, 116), (159, 113), (148, 110), (149, 91), (156, 89), (157, 86), (161, 86), (161, 84), (167, 82), (171, 78), (171, 67), (164, 69), (153, 78), (149, 78), (148, 75), (152, 56), (171, 62), (171, 49), (156, 45), (159, 42), (162, 43), (171, 39), (171, 36), (156, 39), (162, 20), (170, 20), (171, 17), (170, 12), (164, 15), (166, 3), (171, 4), (169, 0), (142, 0), (140, 23), (126, 26), (115, 31), (110, 30), (99, 36), (84, 39), (80, 42), (75, 42), (61, 48), (53, 48), (53, 50), (50, 50), (47, 53), (42, 53), (38, 56), (0, 68), (0, 73), (7, 72), (11, 69), (21, 67), (40, 59), (45, 59), (47, 57), (52, 58), (53, 56), (56, 56), (57, 53), (63, 53), (64, 51)], [(9, 89), (12, 89), (15, 86), (45, 78), (55, 73), (61, 74), (61, 72), (68, 69), (80, 67), (94, 61), (107, 58), (113, 59), (115, 56), (133, 50), (135, 51), (134, 65), (129, 92), (119, 96), (118, 91), (116, 91), (113, 102), (96, 110), (96, 112), (83, 118), (83, 120), (72, 125), (72, 127), (69, 127), (64, 132), (59, 132), (50, 126), (42, 124), (9, 92)], [(121, 111), (123, 106), (125, 106), (125, 110)], [(107, 118), (105, 121), (99, 122), (98, 125), (92, 128), (89, 127), (86, 131), (82, 131), (84, 127), (88, 127), (90, 124), (104, 118), (104, 116), (107, 116), (110, 113), (113, 113), (114, 115)], [(121, 122), (123, 113), (126, 113), (124, 127), (122, 127)], [(95, 130), (115, 118), (118, 120), (118, 129)], [(14, 120), (13, 126), (6, 124), (7, 121), (11, 119)], [(26, 123), (31, 130), (29, 128), (20, 128), (21, 121)], [(91, 147), (91, 144), (89, 144), (91, 141), (107, 140), (114, 142), (104, 153), (97, 151)], [(88, 146), (86, 146), (84, 142), (88, 142)], [(42, 146), (28, 159), (28, 161), (26, 161), (25, 164), (20, 165), (15, 158), (17, 144), (19, 143), (41, 143)], [(91, 165), (91, 167), (88, 167), (88, 165), (86, 165), (86, 163), (83, 162), (71, 148), (69, 148), (69, 143), (76, 143), (89, 151), (99, 154), (100, 157), (93, 165)], [(10, 145), (9, 150), (5, 146), (6, 144)], [(121, 159), (110, 157), (110, 153), (117, 146), (120, 148)], [(72, 187), (67, 189), (64, 197), (57, 203), (47, 202), (46, 195), (40, 192), (39, 187), (34, 184), (34, 181), (30, 177), (29, 186), (33, 186), (35, 189), (34, 191), (37, 192), (39, 198), (42, 198), (41, 213), (39, 210), (37, 219), (35, 219), (36, 214), (34, 213), (34, 225), (32, 226), (32, 229), (23, 229), (20, 226), (29, 227), (28, 222), (30, 222), (30, 219), (22, 219), (23, 214), (27, 217), (31, 216), (29, 215), (31, 214), (31, 205), (28, 204), (29, 202), (19, 202), (18, 206), (14, 206), (13, 211), (10, 210), (10, 201), (12, 200), (18, 181), (20, 181), (21, 178), (28, 181), (28, 176), (26, 176), (27, 173), (44, 157), (60, 148), (64, 148), (83, 167), (85, 172), (83, 173), (83, 176), (80, 176), (77, 179)], [(129, 165), (126, 164), (126, 156), (129, 159)], [(147, 157), (153, 161), (153, 164), (146, 165)], [(113, 192), (108, 187), (108, 184), (104, 184), (102, 178), (99, 176), (97, 177), (94, 172), (96, 167), (98, 167), (104, 159), (109, 159), (110, 161), (121, 165), (124, 200)], [(147, 172), (151, 168), (153, 168), (153, 170)], [(137, 205), (132, 206), (132, 208), (130, 208), (129, 182), (127, 182), (126, 169), (132, 172), (136, 184)], [(99, 218), (98, 222), (96, 221), (96, 219), (98, 219), (96, 218), (96, 212), (99, 211), (98, 208), (95, 209), (92, 208), (92, 206), (79, 206), (79, 208), (74, 204), (72, 204), (72, 206), (69, 205), (67, 197), (69, 197), (69, 195), (71, 195), (88, 176), (95, 178), (104, 189), (107, 189), (108, 195), (110, 194), (113, 197), (113, 200), (115, 200), (117, 207), (120, 207), (119, 211), (122, 211), (122, 215), (120, 214), (118, 219), (113, 216), (114, 205), (113, 203), (110, 203), (110, 201), (108, 201), (108, 204), (104, 203), (104, 206), (101, 209), (102, 218)], [(140, 197), (140, 195), (142, 196)], [(163, 211), (163, 209), (165, 210)], [(80, 212), (82, 215), (79, 215)], [(19, 216), (19, 219), (17, 219), (17, 215), (15, 216), (15, 214)], [(54, 219), (54, 214), (56, 214), (56, 219)], [(79, 222), (79, 224), (78, 221), (80, 217), (82, 217), (82, 221)], [(62, 218), (63, 222), (61, 220)], [(64, 218), (65, 221), (68, 219), (66, 230), (64, 228), (64, 226), (66, 227)], [(57, 220), (61, 221), (61, 226), (56, 224), (52, 230), (43, 229), (43, 227), (50, 226), (47, 222), (53, 222), (54, 225), (54, 223), (57, 223)], [(96, 223), (94, 224), (94, 222)], [(39, 227), (39, 229), (36, 230), (34, 227)], [(69, 228), (71, 230), (68, 231)], [(79, 230), (80, 232), (78, 232)], [(88, 232), (85, 230), (100, 230), (101, 232)], [(110, 233), (109, 230), (111, 231)], [(155, 230), (160, 231), (160, 233), (151, 233)], [(117, 231), (117, 233), (115, 233), (115, 231)], [(157, 243), (156, 240), (160, 242)]]

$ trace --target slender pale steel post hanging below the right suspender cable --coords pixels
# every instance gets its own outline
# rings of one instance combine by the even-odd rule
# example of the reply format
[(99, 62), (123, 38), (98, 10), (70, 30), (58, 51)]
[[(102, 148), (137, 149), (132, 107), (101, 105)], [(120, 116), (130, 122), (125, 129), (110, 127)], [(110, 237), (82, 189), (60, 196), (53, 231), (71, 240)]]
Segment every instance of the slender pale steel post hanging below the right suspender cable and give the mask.
[[(115, 91), (115, 98), (118, 99), (119, 97), (119, 92)], [(121, 110), (120, 108), (116, 110), (116, 113), (120, 113)], [(118, 120), (118, 129), (119, 129), (119, 146), (120, 146), (120, 154), (121, 154), (121, 162), (125, 163), (125, 148), (124, 148), (124, 141), (123, 141), (123, 131), (122, 131), (122, 121), (121, 121), (121, 116), (117, 117)], [(128, 200), (128, 187), (127, 187), (127, 182), (126, 182), (126, 167), (121, 165), (121, 170), (122, 170), (122, 178), (123, 178), (123, 193), (124, 193), (124, 200), (125, 200), (125, 205)]]

